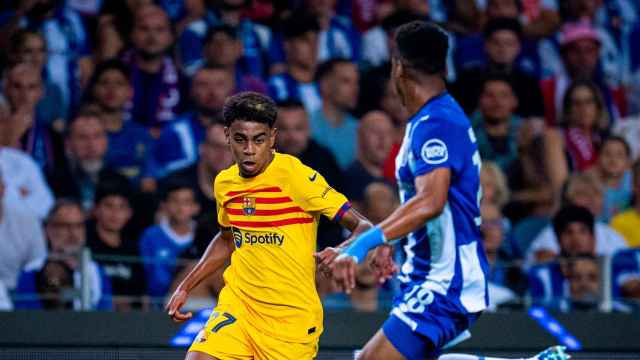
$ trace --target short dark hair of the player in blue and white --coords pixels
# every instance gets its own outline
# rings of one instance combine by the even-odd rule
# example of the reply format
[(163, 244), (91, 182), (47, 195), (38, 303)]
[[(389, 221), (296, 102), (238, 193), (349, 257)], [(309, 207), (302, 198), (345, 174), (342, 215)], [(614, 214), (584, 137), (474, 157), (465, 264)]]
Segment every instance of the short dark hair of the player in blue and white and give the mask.
[(395, 37), (403, 62), (427, 75), (444, 75), (449, 36), (440, 26), (412, 21), (398, 28)]

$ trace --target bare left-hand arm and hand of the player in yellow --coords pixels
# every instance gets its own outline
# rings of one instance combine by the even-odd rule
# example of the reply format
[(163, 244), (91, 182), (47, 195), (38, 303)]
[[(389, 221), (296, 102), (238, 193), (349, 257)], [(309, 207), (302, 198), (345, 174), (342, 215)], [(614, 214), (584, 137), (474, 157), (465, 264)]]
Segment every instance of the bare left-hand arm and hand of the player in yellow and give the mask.
[(191, 312), (186, 314), (180, 312), (180, 308), (187, 301), (189, 292), (202, 282), (202, 280), (224, 266), (234, 249), (233, 235), (230, 229), (221, 230), (213, 240), (211, 240), (209, 246), (207, 246), (207, 250), (205, 250), (193, 270), (180, 282), (180, 285), (178, 285), (165, 307), (165, 310), (167, 310), (167, 313), (173, 320), (180, 322), (191, 318)]

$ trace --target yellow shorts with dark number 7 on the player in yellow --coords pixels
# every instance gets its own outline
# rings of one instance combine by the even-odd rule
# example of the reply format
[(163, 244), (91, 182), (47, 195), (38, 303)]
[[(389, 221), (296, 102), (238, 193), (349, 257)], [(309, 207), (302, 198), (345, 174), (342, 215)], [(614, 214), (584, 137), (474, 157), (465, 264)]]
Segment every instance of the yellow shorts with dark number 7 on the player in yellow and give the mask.
[[(222, 298), (221, 298), (222, 300)], [(306, 360), (315, 358), (318, 342), (293, 343), (278, 340), (249, 324), (243, 304), (219, 303), (189, 351), (220, 360)]]

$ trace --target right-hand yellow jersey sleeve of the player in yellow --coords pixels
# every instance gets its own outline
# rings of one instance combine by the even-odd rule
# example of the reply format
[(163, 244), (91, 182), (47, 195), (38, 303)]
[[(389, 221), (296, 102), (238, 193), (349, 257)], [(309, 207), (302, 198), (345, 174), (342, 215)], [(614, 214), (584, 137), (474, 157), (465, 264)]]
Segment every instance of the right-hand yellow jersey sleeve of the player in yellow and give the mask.
[(307, 212), (339, 221), (351, 208), (351, 203), (342, 193), (332, 188), (317, 171), (299, 163), (292, 169), (292, 195), (298, 205)]

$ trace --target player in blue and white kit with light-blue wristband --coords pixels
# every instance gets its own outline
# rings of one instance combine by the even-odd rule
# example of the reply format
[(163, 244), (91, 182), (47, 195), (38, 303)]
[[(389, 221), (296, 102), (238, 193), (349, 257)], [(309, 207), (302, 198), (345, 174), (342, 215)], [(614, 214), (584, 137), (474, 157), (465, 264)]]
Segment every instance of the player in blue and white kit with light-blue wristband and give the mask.
[[(385, 244), (406, 237), (398, 276), (402, 296), (359, 359), (435, 359), (469, 336), (488, 305), (487, 259), (480, 234), (480, 154), (469, 119), (446, 92), (448, 35), (414, 21), (398, 28), (392, 77), (403, 105), (414, 114), (396, 158), (402, 205), (377, 226), (336, 252), (321, 254), (340, 286), (355, 285), (356, 264), (369, 250), (382, 275), (395, 266)], [(561, 347), (532, 359), (564, 360)], [(447, 360), (496, 360), (445, 355)]]

